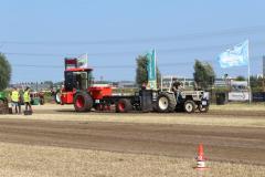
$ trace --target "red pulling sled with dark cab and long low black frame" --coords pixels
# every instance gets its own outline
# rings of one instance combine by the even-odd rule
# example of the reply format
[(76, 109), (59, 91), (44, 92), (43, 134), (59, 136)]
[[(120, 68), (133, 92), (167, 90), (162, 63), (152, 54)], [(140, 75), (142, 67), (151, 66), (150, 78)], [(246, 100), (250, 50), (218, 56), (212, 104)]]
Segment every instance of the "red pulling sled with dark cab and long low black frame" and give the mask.
[[(142, 102), (140, 96), (114, 96), (110, 86), (93, 85), (93, 69), (78, 67), (77, 62), (77, 59), (65, 59), (64, 85), (55, 96), (57, 102), (74, 104), (76, 112), (89, 112), (92, 108), (110, 111), (112, 105), (115, 105), (116, 112), (121, 113), (135, 108), (147, 110), (147, 107), (139, 107)], [(149, 110), (151, 110), (150, 106)]]

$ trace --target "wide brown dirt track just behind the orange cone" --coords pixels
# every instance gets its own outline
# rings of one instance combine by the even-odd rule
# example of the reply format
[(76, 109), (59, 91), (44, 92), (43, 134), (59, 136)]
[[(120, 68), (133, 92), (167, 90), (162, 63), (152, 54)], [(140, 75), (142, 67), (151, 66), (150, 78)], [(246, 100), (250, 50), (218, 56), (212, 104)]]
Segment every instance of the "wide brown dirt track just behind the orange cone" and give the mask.
[(254, 127), (2, 118), (0, 142), (187, 158), (203, 143), (211, 160), (265, 165), (265, 129)]

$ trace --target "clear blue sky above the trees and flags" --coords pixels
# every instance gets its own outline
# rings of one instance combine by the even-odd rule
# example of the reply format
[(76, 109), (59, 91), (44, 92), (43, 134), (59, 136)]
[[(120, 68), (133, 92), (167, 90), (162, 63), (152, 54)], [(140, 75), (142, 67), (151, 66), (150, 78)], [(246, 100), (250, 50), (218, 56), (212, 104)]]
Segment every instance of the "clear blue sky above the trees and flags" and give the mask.
[(263, 0), (9, 0), (1, 2), (0, 52), (12, 82), (62, 81), (64, 56), (88, 53), (99, 80), (134, 80), (135, 59), (155, 48), (162, 74), (191, 77), (194, 59), (222, 76), (219, 53), (250, 39), (251, 72), (265, 54)]

